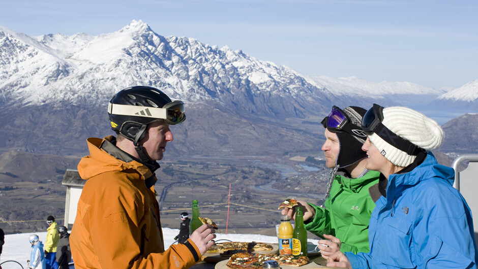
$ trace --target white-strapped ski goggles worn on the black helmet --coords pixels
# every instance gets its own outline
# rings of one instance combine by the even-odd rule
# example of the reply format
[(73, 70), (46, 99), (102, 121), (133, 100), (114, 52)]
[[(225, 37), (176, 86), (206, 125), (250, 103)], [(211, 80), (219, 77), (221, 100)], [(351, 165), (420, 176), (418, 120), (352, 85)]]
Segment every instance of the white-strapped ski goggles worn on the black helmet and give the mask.
[(184, 103), (180, 100), (175, 100), (174, 102), (168, 103), (162, 108), (109, 103), (108, 113), (113, 115), (163, 119), (165, 122), (171, 125), (179, 124), (186, 120)]

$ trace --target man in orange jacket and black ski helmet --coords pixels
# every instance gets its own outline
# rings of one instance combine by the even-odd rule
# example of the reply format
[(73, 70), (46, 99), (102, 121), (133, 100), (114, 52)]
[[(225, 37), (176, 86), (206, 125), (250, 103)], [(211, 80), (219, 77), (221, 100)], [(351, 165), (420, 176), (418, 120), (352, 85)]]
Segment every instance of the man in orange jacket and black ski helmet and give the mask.
[(146, 86), (116, 93), (108, 105), (112, 129), (89, 138), (78, 164), (87, 180), (70, 235), (75, 268), (189, 268), (215, 242), (203, 224), (184, 244), (164, 249), (154, 184), (157, 160), (173, 140), (170, 125), (186, 119), (184, 103)]

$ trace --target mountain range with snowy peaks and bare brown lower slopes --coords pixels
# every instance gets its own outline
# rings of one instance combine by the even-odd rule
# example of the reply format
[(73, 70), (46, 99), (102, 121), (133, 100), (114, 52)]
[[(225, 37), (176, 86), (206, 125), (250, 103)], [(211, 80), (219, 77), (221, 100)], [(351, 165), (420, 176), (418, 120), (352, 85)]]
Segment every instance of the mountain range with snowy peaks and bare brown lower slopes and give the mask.
[(332, 105), (426, 104), (443, 93), (407, 82), (312, 78), (227, 46), (160, 36), (142, 21), (98, 36), (28, 37), (0, 27), (0, 150), (84, 151), (71, 140), (111, 133), (102, 124), (106, 104), (134, 85), (186, 102), (188, 120), (175, 126), (184, 139), (173, 146), (178, 154), (320, 148), (317, 128)]

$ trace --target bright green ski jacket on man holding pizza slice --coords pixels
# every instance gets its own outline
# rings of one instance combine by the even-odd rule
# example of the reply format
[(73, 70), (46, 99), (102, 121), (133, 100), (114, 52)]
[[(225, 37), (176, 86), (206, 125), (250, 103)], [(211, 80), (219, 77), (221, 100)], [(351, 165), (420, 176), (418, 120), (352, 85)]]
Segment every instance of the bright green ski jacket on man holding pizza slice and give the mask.
[(342, 252), (369, 252), (369, 222), (375, 208), (369, 188), (378, 183), (379, 175), (376, 171), (356, 179), (336, 175), (325, 208), (309, 203), (315, 216), (306, 221), (306, 229), (320, 238), (325, 233), (340, 239)]

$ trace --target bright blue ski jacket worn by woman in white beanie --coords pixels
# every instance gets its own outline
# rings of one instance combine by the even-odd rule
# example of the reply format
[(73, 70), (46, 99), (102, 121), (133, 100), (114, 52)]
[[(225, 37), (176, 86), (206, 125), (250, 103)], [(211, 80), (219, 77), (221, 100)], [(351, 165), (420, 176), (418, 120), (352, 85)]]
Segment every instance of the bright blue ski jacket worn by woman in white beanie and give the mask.
[(475, 268), (471, 212), (454, 175), (432, 153), (391, 175), (370, 218), (370, 252), (345, 253), (352, 268)]

